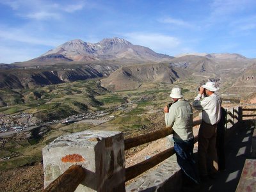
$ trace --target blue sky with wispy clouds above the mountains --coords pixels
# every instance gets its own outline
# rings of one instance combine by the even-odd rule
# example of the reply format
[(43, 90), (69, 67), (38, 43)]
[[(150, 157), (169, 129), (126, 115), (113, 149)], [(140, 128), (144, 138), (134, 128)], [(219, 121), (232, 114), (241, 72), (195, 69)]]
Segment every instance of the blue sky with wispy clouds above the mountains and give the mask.
[(69, 40), (115, 36), (170, 56), (256, 58), (256, 1), (0, 1), (0, 63), (31, 60)]

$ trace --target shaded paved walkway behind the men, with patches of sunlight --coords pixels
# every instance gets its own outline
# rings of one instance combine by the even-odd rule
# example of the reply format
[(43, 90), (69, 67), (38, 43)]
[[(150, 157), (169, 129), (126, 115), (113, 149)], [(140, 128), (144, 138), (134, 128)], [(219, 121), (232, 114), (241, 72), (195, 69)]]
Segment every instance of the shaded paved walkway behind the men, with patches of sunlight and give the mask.
[(247, 121), (244, 121), (243, 125), (238, 128), (225, 147), (226, 170), (218, 173), (217, 179), (203, 184), (201, 191), (236, 191), (244, 162), (251, 158), (250, 150), (254, 128), (255, 124), (250, 124)]

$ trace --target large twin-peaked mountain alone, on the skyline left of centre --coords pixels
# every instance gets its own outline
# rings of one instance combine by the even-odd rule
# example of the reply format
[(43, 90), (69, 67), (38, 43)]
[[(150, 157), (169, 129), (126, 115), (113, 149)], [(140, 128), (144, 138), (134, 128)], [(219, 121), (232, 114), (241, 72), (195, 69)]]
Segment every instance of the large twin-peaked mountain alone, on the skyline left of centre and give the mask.
[[(97, 44), (71, 40), (55, 49), (45, 52), (42, 56), (22, 62), (22, 65), (47, 65), (52, 63), (68, 63), (72, 61), (88, 62), (97, 60), (136, 60), (163, 61), (173, 57), (159, 54), (148, 47), (133, 45), (122, 38), (105, 38)], [(15, 63), (17, 65), (18, 63)]]

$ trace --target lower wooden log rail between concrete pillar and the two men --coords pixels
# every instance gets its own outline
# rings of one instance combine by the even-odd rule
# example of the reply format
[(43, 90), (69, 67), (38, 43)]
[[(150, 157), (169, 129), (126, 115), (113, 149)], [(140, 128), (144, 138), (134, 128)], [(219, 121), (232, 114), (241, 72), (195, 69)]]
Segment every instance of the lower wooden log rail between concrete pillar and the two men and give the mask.
[[(198, 136), (195, 137), (194, 143), (198, 141)], [(142, 161), (141, 163), (134, 164), (133, 166), (129, 166), (125, 168), (125, 181), (131, 180), (134, 177), (137, 177), (141, 173), (146, 172), (150, 168), (153, 168), (157, 164), (161, 163), (168, 157), (175, 154), (174, 148), (168, 148), (164, 150), (163, 152), (160, 152), (159, 154), (156, 154), (156, 156), (150, 157), (149, 159), (146, 159), (145, 161)]]

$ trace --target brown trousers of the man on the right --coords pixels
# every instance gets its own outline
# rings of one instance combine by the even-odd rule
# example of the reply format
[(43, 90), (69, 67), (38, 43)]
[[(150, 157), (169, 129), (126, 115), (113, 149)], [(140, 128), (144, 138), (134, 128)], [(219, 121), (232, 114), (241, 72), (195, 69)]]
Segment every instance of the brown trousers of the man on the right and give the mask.
[[(218, 171), (216, 152), (217, 125), (202, 122), (198, 132), (198, 167), (200, 176), (204, 177)], [(208, 164), (208, 166), (207, 166)]]

